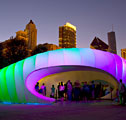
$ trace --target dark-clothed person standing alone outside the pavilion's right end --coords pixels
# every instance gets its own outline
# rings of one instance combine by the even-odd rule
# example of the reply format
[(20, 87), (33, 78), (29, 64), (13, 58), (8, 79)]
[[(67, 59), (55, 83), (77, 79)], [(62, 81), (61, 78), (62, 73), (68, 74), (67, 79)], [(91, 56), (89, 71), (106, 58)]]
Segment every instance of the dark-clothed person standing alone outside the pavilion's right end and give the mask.
[(121, 105), (125, 105), (125, 94), (126, 94), (126, 88), (125, 85), (122, 83), (122, 79), (120, 79), (119, 84), (119, 101)]

